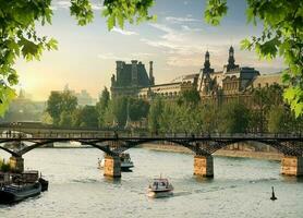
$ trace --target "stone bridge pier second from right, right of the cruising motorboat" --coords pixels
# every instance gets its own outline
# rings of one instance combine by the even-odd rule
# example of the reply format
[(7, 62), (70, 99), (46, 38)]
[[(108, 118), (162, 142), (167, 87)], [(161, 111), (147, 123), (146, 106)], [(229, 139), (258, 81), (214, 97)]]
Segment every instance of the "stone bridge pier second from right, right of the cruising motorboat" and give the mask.
[(214, 158), (211, 155), (208, 156), (195, 155), (194, 175), (206, 177), (206, 178), (214, 177)]

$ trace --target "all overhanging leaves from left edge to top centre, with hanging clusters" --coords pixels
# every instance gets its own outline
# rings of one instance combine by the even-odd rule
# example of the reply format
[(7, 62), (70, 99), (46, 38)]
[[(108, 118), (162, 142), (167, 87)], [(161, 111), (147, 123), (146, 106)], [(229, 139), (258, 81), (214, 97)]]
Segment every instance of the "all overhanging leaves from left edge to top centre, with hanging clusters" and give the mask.
[[(57, 49), (57, 40), (38, 36), (36, 24), (51, 24), (51, 0), (0, 0), (0, 114), (3, 114), (10, 101), (15, 97), (14, 85), (17, 73), (14, 69), (19, 57), (31, 61), (39, 60), (44, 50)], [(140, 23), (152, 20), (148, 8), (154, 0), (105, 0), (102, 16), (108, 28), (124, 21)], [(94, 20), (90, 0), (71, 0), (71, 15), (83, 26)]]

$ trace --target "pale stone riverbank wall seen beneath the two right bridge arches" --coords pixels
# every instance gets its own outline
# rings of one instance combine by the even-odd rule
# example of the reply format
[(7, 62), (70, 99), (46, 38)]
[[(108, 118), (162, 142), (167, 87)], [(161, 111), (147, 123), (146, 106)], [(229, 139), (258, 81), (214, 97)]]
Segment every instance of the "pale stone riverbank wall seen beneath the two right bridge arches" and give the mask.
[[(192, 150), (175, 145), (162, 145), (162, 144), (144, 144), (142, 148), (159, 152), (173, 152), (173, 153), (184, 153), (194, 154)], [(255, 158), (255, 159), (268, 159), (268, 160), (281, 160), (282, 154), (279, 153), (266, 153), (266, 152), (251, 152), (251, 150), (228, 150), (220, 149), (217, 150), (214, 156), (221, 157), (244, 157), (244, 158)]]

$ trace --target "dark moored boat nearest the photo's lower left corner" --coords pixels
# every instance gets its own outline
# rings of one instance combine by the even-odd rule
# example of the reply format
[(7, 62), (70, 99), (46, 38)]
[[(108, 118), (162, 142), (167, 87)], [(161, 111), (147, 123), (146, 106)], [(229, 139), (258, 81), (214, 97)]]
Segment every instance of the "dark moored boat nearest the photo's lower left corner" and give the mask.
[(8, 184), (0, 189), (0, 204), (12, 204), (21, 202), (27, 197), (36, 196), (41, 192), (39, 182), (29, 184)]

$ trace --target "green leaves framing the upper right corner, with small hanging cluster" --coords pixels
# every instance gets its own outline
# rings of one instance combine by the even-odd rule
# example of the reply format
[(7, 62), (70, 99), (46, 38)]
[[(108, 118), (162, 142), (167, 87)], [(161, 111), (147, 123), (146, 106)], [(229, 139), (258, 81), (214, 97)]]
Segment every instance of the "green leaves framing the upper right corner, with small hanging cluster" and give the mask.
[[(218, 25), (227, 13), (227, 0), (208, 0), (206, 22)], [(260, 36), (242, 40), (242, 48), (254, 49), (259, 58), (284, 59), (289, 69), (282, 80), (288, 86), (283, 97), (299, 117), (303, 113), (303, 1), (302, 0), (247, 0), (247, 23), (263, 24)]]

